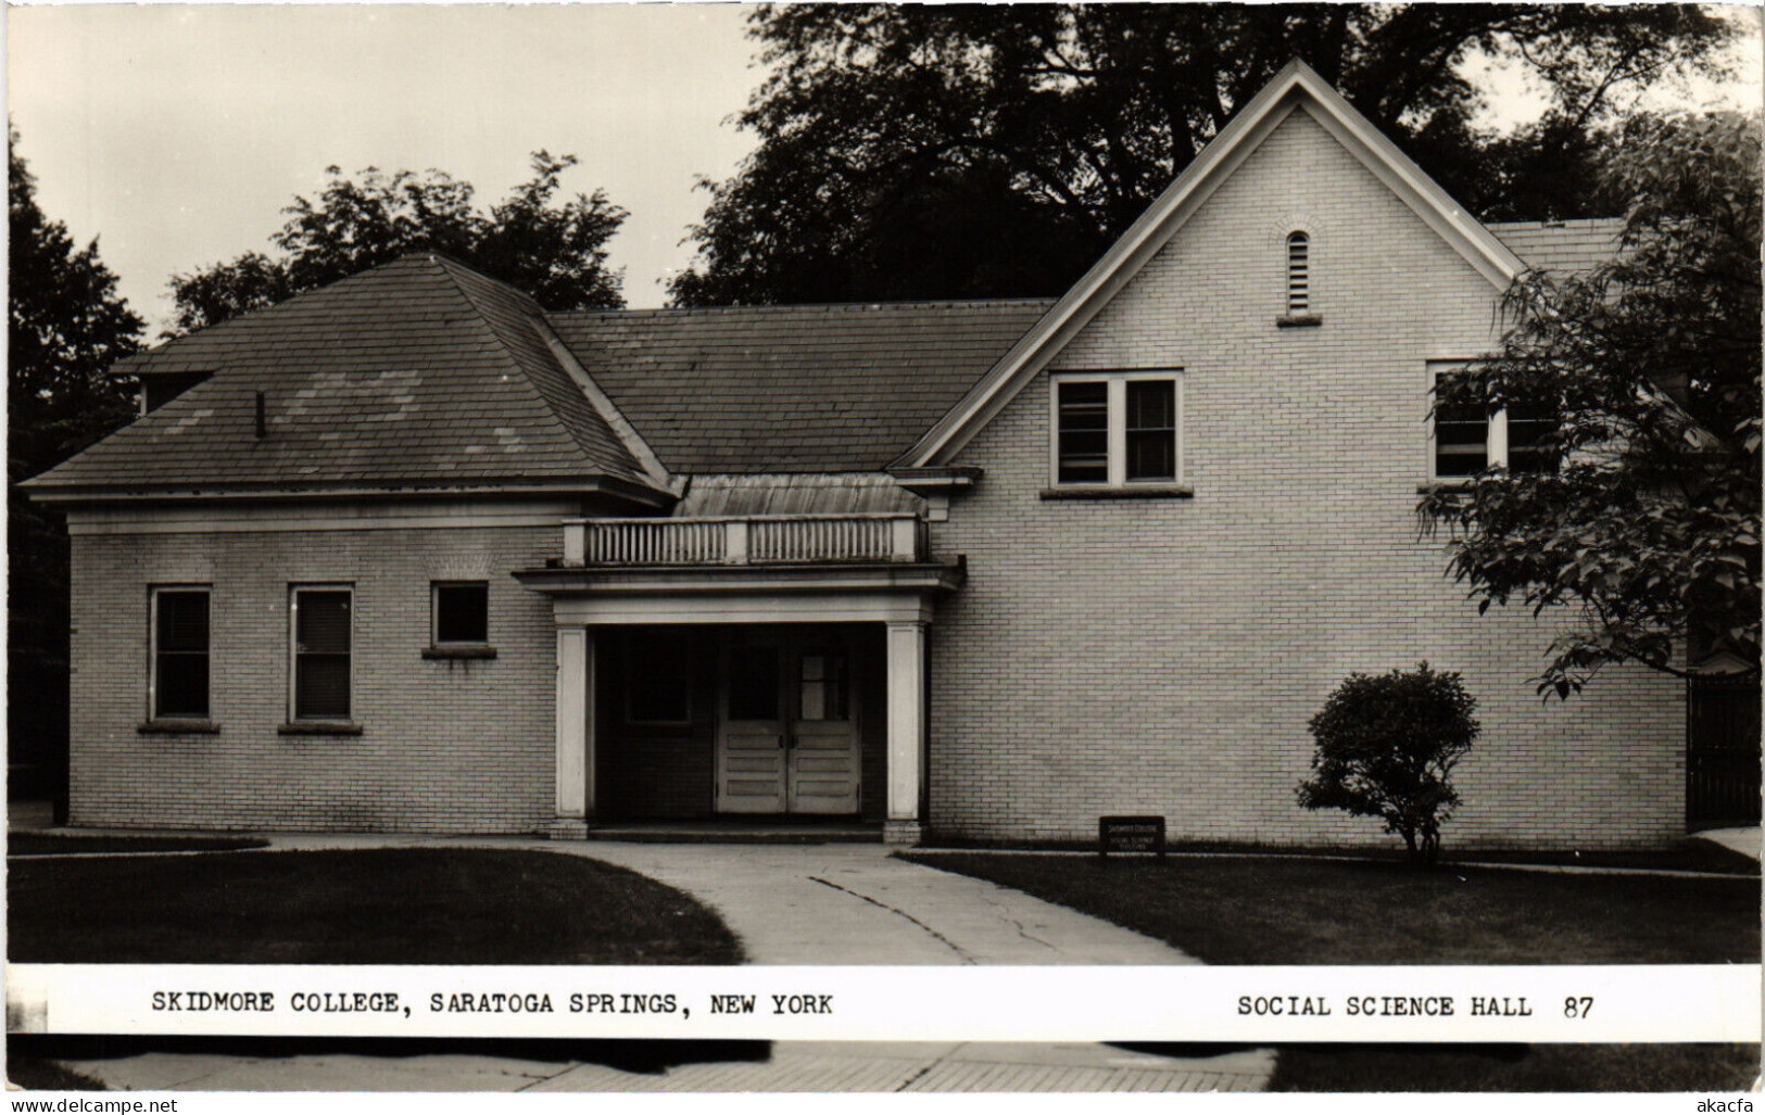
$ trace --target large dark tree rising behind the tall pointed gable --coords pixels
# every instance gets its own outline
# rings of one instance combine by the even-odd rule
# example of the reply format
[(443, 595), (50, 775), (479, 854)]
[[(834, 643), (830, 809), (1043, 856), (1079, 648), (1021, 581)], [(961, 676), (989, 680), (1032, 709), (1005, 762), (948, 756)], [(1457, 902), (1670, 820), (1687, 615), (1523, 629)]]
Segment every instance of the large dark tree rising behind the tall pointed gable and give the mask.
[[(1274, 72), (1304, 58), (1479, 213), (1588, 215), (1613, 106), (1716, 72), (1730, 25), (1693, 5), (764, 5), (759, 146), (690, 240), (685, 305), (1052, 295)], [(1472, 53), (1551, 95), (1472, 127)], [(1491, 157), (1493, 155), (1493, 157)]]

